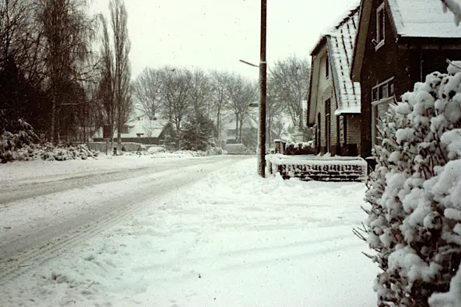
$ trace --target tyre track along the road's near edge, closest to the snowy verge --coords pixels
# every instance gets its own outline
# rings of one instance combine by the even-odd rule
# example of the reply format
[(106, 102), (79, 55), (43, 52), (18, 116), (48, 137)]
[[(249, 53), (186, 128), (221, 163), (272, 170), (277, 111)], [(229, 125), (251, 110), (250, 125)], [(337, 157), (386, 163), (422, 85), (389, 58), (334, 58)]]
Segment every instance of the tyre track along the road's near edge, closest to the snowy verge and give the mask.
[[(17, 255), (18, 250), (24, 248), (21, 244), (16, 244), (14, 248), (10, 247), (10, 250), (0, 250), (0, 255), (3, 254), (3, 259), (0, 260), (0, 285), (10, 282), (11, 279), (24, 274), (30, 269), (39, 267), (43, 262), (61, 253), (66, 253), (69, 248), (103, 232), (108, 227), (117, 225), (124, 218), (150, 205), (150, 202), (146, 203), (147, 200), (155, 200), (158, 197), (166, 195), (171, 190), (186, 188), (186, 186), (203, 179), (206, 174), (221, 167), (232, 165), (235, 160), (238, 159), (228, 158), (219, 162), (207, 161), (198, 165), (176, 168), (176, 174), (168, 177), (165, 177), (165, 175), (170, 174), (170, 171), (163, 172), (163, 176), (162, 174), (157, 174), (153, 180), (150, 179), (152, 180), (152, 189), (133, 191), (133, 193), (124, 195), (121, 200), (117, 200), (117, 204), (108, 202), (108, 205), (101, 206), (95, 211), (88, 212), (60, 225), (50, 227), (41, 234), (32, 234), (29, 238), (19, 240), (23, 241), (22, 244), (24, 246), (34, 241), (43, 240), (41, 244), (36, 245), (28, 251)], [(156, 195), (153, 196), (153, 192), (156, 192)], [(91, 220), (88, 221), (86, 220), (87, 218), (91, 218)], [(86, 220), (86, 222), (82, 224), (82, 220)], [(62, 234), (63, 228), (71, 230), (66, 234)], [(11, 258), (14, 256), (16, 257)]]

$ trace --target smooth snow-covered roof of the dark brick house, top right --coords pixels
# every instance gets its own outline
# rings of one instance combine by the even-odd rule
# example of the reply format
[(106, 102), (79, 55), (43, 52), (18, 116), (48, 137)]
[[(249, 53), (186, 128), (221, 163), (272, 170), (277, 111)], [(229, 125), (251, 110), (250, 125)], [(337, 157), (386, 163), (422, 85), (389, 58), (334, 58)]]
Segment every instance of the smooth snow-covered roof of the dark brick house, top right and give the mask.
[(440, 1), (388, 0), (388, 4), (400, 36), (461, 38), (453, 13), (444, 13)]

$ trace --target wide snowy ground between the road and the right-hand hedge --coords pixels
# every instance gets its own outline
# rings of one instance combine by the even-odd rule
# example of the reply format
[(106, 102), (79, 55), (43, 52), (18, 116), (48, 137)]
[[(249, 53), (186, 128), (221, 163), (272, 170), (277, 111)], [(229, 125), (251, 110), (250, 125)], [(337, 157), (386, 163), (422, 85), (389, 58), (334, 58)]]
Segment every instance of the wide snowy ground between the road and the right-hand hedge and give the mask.
[(365, 186), (261, 179), (256, 160), (172, 191), (0, 288), (0, 306), (376, 306), (352, 234)]

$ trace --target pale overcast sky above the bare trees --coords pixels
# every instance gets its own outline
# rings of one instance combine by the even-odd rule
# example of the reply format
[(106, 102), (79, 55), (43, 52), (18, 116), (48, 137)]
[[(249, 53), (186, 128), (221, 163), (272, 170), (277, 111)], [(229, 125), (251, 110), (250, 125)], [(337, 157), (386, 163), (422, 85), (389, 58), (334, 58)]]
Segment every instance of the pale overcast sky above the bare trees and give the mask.
[[(94, 0), (108, 15), (109, 0)], [(133, 77), (146, 66), (231, 70), (257, 79), (260, 0), (125, 0)], [(268, 0), (268, 65), (309, 57), (321, 31), (356, 0)]]

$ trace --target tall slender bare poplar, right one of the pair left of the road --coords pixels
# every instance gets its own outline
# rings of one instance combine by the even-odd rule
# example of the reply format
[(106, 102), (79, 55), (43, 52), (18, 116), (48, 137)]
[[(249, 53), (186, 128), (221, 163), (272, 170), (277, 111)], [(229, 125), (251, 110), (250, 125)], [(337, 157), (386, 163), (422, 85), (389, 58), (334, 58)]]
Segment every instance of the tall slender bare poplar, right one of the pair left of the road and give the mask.
[(128, 36), (128, 13), (122, 0), (109, 3), (110, 23), (114, 36), (114, 98), (117, 110), (117, 143), (122, 147), (122, 128), (129, 121), (132, 109), (131, 66), (129, 53), (131, 43)]

